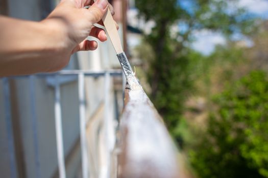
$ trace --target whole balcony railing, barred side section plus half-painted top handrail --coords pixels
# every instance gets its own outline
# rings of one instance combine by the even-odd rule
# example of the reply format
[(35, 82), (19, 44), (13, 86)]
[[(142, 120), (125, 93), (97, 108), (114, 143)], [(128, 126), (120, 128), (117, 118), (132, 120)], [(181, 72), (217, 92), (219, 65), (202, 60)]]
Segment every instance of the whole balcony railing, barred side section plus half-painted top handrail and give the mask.
[[(58, 170), (54, 176), (66, 177), (66, 156), (64, 156), (63, 135), (62, 135), (62, 111), (61, 111), (61, 82), (68, 80), (78, 81), (79, 92), (79, 115), (80, 115), (80, 142), (82, 177), (179, 177), (177, 149), (170, 138), (162, 118), (159, 116), (154, 105), (143, 91), (130, 91), (128, 86), (125, 90), (125, 107), (119, 121), (119, 129), (112, 126), (109, 117), (109, 91), (110, 77), (121, 77), (119, 70), (102, 72), (92, 71), (61, 71), (53, 74), (37, 74), (33, 76), (20, 76), (3, 78), (3, 92), (5, 103), (5, 121), (8, 135), (8, 149), (10, 158), (11, 177), (18, 177), (17, 163), (14, 147), (14, 136), (12, 128), (12, 113), (10, 102), (9, 79), (28, 78), (31, 93), (31, 124), (33, 130), (34, 153), (36, 177), (40, 177), (40, 158), (38, 148), (37, 114), (35, 97), (35, 80), (37, 78), (48, 78), (48, 82), (55, 87), (55, 126), (57, 141)], [(106, 162), (104, 167), (96, 168), (94, 164), (89, 164), (95, 149), (89, 151), (87, 131), (94, 130), (94, 124), (89, 126), (86, 119), (86, 99), (85, 99), (85, 78), (104, 77), (104, 142), (106, 152)], [(65, 78), (65, 79), (64, 79)], [(123, 80), (125, 83), (125, 80)], [(119, 113), (117, 113), (119, 115)], [(91, 128), (90, 128), (91, 127)], [(116, 144), (111, 144), (109, 129), (113, 129), (116, 137)], [(95, 139), (98, 137), (95, 137)], [(94, 145), (93, 145), (94, 146)], [(93, 152), (93, 153), (92, 153)], [(91, 154), (91, 156), (89, 155)], [(88, 159), (89, 158), (89, 159)], [(93, 159), (93, 158), (92, 158)], [(102, 173), (101, 171), (104, 171)], [(94, 173), (95, 172), (95, 173)], [(102, 176), (101, 176), (102, 175)]]

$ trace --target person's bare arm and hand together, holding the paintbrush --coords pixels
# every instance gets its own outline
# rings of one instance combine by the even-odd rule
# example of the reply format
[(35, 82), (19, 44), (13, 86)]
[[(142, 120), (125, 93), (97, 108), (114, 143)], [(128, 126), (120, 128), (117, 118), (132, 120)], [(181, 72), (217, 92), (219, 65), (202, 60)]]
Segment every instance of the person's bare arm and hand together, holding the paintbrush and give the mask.
[(113, 13), (107, 0), (62, 0), (41, 22), (0, 16), (0, 77), (55, 72), (72, 53), (96, 49), (96, 41), (86, 38), (107, 40), (94, 24), (101, 24), (108, 8)]

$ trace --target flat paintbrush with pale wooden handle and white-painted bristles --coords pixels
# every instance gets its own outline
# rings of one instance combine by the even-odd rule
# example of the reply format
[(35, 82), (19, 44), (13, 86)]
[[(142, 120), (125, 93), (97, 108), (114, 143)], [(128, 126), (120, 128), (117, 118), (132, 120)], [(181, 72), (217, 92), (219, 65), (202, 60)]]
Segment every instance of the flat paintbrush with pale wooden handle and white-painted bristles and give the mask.
[[(95, 1), (95, 0), (94, 0)], [(142, 90), (141, 85), (139, 84), (137, 78), (135, 77), (133, 70), (129, 64), (128, 58), (123, 51), (123, 47), (120, 42), (119, 34), (117, 32), (112, 14), (108, 9), (106, 14), (102, 18), (103, 24), (106, 28), (106, 33), (108, 34), (112, 45), (115, 49), (116, 56), (119, 60), (119, 63), (124, 71), (124, 74), (127, 78), (128, 84), (131, 90)]]

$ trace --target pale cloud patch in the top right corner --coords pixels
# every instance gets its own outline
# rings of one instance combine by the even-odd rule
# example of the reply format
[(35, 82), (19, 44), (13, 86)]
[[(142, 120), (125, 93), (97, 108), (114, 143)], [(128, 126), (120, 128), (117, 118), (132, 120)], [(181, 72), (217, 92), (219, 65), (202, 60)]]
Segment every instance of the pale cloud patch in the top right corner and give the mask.
[(268, 14), (267, 0), (239, 0), (238, 6), (258, 15)]

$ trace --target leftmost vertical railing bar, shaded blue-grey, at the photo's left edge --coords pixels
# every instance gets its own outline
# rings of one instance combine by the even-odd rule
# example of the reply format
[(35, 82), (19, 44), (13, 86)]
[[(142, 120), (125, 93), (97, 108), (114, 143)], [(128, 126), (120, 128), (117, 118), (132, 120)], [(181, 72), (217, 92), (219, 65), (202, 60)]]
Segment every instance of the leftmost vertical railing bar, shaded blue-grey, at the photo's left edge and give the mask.
[(14, 147), (14, 136), (12, 128), (12, 116), (11, 116), (11, 103), (10, 103), (10, 87), (9, 79), (3, 78), (4, 85), (4, 101), (5, 101), (5, 118), (6, 118), (6, 127), (7, 127), (7, 136), (8, 136), (8, 150), (10, 158), (10, 174), (12, 178), (17, 177), (17, 164), (15, 156), (15, 147)]

